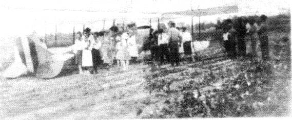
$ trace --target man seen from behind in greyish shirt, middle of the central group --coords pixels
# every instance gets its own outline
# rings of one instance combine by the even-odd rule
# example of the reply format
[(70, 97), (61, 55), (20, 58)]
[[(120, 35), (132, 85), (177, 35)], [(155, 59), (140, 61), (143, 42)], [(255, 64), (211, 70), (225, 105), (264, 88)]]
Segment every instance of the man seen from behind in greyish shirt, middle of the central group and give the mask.
[(169, 22), (168, 25), (170, 28), (168, 31), (170, 63), (171, 63), (171, 66), (174, 66), (174, 64), (179, 66), (180, 64), (179, 47), (182, 44), (182, 36), (180, 34), (180, 31), (176, 29), (176, 23)]

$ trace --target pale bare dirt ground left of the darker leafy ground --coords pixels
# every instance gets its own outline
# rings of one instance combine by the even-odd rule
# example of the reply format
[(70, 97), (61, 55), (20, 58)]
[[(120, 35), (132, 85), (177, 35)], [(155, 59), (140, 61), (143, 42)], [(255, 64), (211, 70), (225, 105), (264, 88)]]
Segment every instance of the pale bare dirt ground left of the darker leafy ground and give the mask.
[(137, 64), (97, 75), (1, 79), (0, 119), (137, 118), (139, 101), (149, 95), (143, 90), (147, 69)]

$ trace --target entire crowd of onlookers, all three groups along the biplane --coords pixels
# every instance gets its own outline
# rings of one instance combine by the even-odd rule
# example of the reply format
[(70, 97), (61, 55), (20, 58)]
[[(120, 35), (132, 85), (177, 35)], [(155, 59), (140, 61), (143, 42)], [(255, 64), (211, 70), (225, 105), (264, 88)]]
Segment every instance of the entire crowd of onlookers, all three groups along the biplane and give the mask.
[[(251, 42), (250, 54), (255, 58), (259, 39), (262, 59), (268, 60), (266, 21), (265, 15), (260, 16), (258, 22), (255, 19), (245, 20), (242, 17), (237, 18), (236, 22), (226, 19), (222, 37), (228, 57), (232, 59), (246, 57), (247, 39)], [(166, 61), (170, 62), (171, 66), (179, 66), (182, 55), (194, 61), (194, 42), (187, 28), (184, 26), (178, 28), (172, 21), (168, 22), (168, 26), (160, 23), (158, 30), (150, 29), (151, 59), (158, 62), (159, 66)], [(139, 56), (136, 34), (137, 26), (134, 22), (129, 23), (126, 28), (112, 26), (110, 31), (91, 33), (91, 30), (86, 28), (83, 34), (77, 32), (73, 50), (80, 73), (92, 71), (91, 73), (95, 74), (101, 65), (108, 67), (113, 63), (121, 66), (122, 70), (128, 69), (129, 62), (135, 62)]]

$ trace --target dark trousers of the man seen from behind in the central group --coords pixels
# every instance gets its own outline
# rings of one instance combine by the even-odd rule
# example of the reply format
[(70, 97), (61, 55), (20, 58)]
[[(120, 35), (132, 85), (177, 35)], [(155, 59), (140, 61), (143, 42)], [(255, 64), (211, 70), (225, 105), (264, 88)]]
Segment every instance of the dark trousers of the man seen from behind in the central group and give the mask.
[(179, 43), (176, 41), (169, 42), (169, 61), (171, 65), (180, 64)]

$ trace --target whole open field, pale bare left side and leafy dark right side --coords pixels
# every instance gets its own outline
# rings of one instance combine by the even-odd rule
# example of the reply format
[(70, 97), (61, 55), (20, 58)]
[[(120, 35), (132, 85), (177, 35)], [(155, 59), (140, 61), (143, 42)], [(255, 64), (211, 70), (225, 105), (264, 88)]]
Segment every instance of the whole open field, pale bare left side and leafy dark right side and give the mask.
[(0, 78), (0, 119), (290, 116), (290, 33), (271, 31), (269, 43), (268, 63), (226, 58), (212, 41), (206, 58), (219, 50), (222, 56), (178, 67), (141, 63), (96, 75)]

